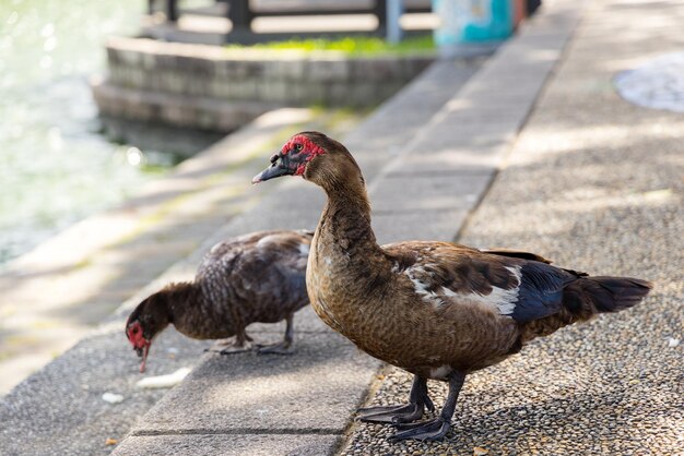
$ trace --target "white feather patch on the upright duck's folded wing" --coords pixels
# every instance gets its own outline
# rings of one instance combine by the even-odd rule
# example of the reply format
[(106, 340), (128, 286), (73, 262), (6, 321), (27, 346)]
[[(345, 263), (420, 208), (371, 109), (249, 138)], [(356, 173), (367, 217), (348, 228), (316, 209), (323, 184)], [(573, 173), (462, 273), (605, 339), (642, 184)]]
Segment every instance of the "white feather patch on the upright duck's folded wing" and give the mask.
[(516, 303), (518, 302), (518, 295), (520, 292), (520, 266), (506, 266), (506, 269), (508, 269), (516, 277), (518, 283), (514, 288), (504, 289), (499, 287), (492, 287), (492, 291), (488, 295), (482, 295), (479, 292), (463, 293), (447, 287), (440, 287), (438, 291), (429, 291), (429, 284), (424, 281), (425, 277), (433, 276), (433, 273), (428, 271), (429, 266), (429, 264), (426, 264), (425, 266), (410, 267), (404, 271), (404, 274), (413, 283), (415, 292), (421, 295), (426, 303), (439, 309), (441, 305), (452, 301), (461, 303), (476, 302), (496, 309), (502, 315), (510, 315), (514, 313)]

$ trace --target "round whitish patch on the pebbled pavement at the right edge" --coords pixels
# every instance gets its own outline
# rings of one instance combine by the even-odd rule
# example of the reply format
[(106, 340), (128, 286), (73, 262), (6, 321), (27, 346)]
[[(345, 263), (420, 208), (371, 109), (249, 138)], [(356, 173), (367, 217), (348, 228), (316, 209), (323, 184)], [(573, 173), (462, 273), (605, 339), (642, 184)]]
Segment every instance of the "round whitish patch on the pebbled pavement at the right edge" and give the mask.
[(613, 80), (617, 93), (645, 108), (684, 112), (684, 52), (660, 56)]

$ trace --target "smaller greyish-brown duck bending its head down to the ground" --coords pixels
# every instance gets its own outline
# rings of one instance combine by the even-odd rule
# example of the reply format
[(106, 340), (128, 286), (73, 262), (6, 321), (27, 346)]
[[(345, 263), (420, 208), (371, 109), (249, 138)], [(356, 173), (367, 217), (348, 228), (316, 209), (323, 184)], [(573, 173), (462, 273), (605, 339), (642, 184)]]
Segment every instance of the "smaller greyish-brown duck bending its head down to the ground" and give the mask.
[(128, 317), (126, 336), (142, 358), (168, 324), (194, 339), (235, 336), (221, 353), (249, 349), (245, 328), (256, 322), (287, 326), (281, 344), (260, 353), (292, 350), (294, 313), (308, 304), (306, 264), (310, 231), (259, 231), (226, 240), (204, 255), (193, 281), (170, 284), (142, 301)]

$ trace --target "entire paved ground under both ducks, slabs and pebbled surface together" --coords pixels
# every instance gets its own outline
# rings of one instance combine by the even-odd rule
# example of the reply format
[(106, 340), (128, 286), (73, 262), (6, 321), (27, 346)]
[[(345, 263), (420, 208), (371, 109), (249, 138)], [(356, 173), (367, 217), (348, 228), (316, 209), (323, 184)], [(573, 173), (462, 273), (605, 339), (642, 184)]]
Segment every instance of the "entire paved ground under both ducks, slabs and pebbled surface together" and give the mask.
[[(683, 336), (684, 312), (682, 260), (673, 253), (683, 247), (676, 235), (684, 228), (684, 129), (681, 115), (621, 100), (610, 81), (617, 70), (681, 46), (682, 14), (681, 1), (609, 0), (586, 9), (546, 2), (475, 76), (438, 63), (344, 137), (368, 178), (384, 242), (449, 240), (460, 231), (464, 243), (529, 249), (564, 266), (657, 283), (641, 308), (564, 329), (469, 377), (447, 441), (390, 444), (388, 427), (350, 427), (365, 399), (403, 401), (410, 382), (397, 370), (378, 370), (310, 309), (297, 315), (293, 357), (205, 355), (163, 397), (134, 392), (139, 375), (120, 335), (133, 297), (102, 334), (0, 404), (1, 447), (105, 452), (106, 436), (120, 439), (130, 429), (115, 454), (676, 454), (684, 392), (682, 345), (672, 340)], [(318, 189), (294, 179), (274, 189), (205, 245), (253, 229), (315, 225)], [(405, 205), (392, 197), (398, 189)], [(201, 251), (141, 293), (187, 277)], [(280, 331), (252, 328), (266, 340)], [(197, 353), (184, 346), (178, 361), (166, 360), (162, 355), (182, 344), (170, 331), (168, 337), (155, 343), (152, 373)], [(74, 365), (83, 368), (74, 372)], [(103, 365), (110, 376), (97, 383), (92, 372)], [(107, 388), (127, 396), (120, 409), (97, 403)], [(444, 387), (431, 388), (439, 407)], [(70, 405), (49, 406), (60, 397)], [(105, 435), (107, 425), (113, 432)]]

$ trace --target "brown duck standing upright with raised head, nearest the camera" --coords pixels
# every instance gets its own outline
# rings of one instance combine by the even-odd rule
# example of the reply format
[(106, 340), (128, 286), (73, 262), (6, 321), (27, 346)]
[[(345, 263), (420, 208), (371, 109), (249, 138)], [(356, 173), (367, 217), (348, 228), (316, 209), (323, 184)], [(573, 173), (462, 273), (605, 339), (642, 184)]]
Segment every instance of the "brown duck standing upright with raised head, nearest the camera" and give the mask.
[[(359, 410), (364, 421), (397, 425), (394, 440), (444, 437), (467, 374), (535, 337), (630, 308), (651, 288), (555, 267), (527, 252), (429, 241), (380, 247), (358, 165), (318, 132), (293, 136), (252, 182), (287, 175), (328, 194), (306, 274), (316, 313), (370, 356), (414, 374), (408, 405)], [(449, 394), (436, 419), (413, 423), (433, 409), (427, 379), (448, 382)]]

